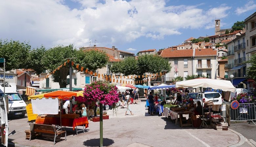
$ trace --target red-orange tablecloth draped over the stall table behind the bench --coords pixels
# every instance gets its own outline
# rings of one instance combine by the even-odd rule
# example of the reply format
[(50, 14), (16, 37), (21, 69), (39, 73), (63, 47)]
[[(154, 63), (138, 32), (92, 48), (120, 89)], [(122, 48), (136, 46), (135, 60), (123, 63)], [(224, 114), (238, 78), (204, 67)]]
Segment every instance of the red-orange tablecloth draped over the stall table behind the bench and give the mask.
[[(56, 124), (60, 125), (60, 118), (57, 117), (37, 117), (35, 120), (35, 123), (37, 124)], [(72, 119), (72, 118), (61, 118), (61, 125), (62, 126), (69, 126), (73, 127), (73, 130), (75, 130), (76, 126), (82, 126), (84, 125), (85, 128), (89, 127), (89, 122), (87, 117), (80, 117), (77, 119)]]

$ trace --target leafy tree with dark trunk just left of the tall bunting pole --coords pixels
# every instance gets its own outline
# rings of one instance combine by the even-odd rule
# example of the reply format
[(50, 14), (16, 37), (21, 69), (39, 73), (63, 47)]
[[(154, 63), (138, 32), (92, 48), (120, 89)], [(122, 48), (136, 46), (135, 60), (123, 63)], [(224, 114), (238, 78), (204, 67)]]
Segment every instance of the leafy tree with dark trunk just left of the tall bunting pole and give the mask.
[[(59, 65), (63, 64), (65, 58), (76, 57), (76, 52), (72, 44), (68, 46), (55, 46), (45, 52), (42, 57), (42, 63), (47, 70), (53, 72)], [(67, 75), (69, 75), (69, 66), (62, 66), (62, 68), (52, 74), (53, 82), (58, 82), (60, 88), (66, 88)]]

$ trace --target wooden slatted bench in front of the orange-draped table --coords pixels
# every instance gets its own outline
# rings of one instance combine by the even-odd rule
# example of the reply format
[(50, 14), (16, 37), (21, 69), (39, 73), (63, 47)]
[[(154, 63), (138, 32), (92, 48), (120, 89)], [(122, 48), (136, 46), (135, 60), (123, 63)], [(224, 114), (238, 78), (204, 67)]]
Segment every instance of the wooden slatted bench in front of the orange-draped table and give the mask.
[[(53, 145), (55, 145), (55, 139), (58, 135), (61, 135), (63, 133), (65, 133), (65, 141), (67, 140), (66, 139), (66, 136), (67, 136), (67, 133), (66, 131), (64, 130), (59, 130), (60, 128), (56, 129), (55, 126), (53, 125), (46, 125), (46, 124), (36, 124), (36, 123), (30, 123), (31, 125), (31, 128), (30, 128), (30, 131), (31, 132), (38, 132), (38, 133), (47, 133), (47, 134), (54, 134), (54, 142), (53, 142)], [(33, 127), (32, 127), (33, 125)], [(32, 134), (32, 133), (31, 133)], [(30, 134), (30, 139), (31, 140), (31, 134)]]

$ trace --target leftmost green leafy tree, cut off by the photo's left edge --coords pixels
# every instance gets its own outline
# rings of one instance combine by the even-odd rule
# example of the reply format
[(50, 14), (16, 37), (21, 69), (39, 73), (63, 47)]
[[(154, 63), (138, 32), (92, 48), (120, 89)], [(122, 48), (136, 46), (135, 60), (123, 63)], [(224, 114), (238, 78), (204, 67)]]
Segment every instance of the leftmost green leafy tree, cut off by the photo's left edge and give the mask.
[(0, 58), (5, 58), (5, 70), (26, 68), (27, 56), (31, 46), (28, 42), (0, 40)]

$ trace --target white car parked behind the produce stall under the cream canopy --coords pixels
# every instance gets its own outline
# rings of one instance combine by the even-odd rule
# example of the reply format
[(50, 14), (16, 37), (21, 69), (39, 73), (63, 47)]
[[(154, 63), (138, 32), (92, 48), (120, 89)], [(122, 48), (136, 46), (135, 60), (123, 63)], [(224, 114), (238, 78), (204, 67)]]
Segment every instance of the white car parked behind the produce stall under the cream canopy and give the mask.
[[(222, 96), (219, 92), (200, 92), (197, 94), (194, 100), (194, 104), (197, 104), (197, 101), (200, 101), (202, 104), (202, 99), (203, 99), (203, 102), (216, 100), (216, 102), (213, 101), (215, 105), (221, 105), (223, 102)], [(202, 106), (204, 106), (204, 104)]]

